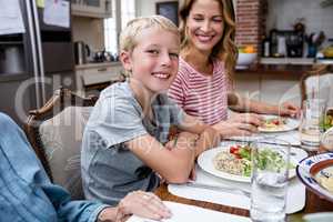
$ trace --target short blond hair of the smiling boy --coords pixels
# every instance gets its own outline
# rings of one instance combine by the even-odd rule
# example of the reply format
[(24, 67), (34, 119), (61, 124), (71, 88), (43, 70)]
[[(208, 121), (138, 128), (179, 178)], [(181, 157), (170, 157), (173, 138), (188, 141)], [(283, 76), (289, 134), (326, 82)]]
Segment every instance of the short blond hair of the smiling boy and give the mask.
[[(120, 51), (132, 52), (137, 47), (137, 37), (149, 28), (157, 28), (164, 31), (170, 31), (176, 34), (180, 39), (180, 32), (176, 26), (169, 19), (162, 16), (139, 17), (128, 22), (127, 27), (121, 31), (119, 38)], [(149, 40), (148, 40), (149, 41)]]

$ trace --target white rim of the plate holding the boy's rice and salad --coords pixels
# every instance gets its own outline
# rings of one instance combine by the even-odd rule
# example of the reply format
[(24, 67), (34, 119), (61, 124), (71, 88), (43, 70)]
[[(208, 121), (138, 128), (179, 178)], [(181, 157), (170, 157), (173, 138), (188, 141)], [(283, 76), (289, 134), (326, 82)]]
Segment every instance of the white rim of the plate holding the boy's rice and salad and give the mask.
[[(244, 176), (244, 175), (235, 175), (231, 174), (228, 172), (222, 172), (215, 169), (213, 159), (216, 157), (219, 152), (222, 151), (229, 151), (230, 147), (219, 147), (215, 149), (206, 150), (203, 153), (201, 153), (198, 158), (198, 165), (205, 172), (213, 174), (218, 178), (231, 180), (231, 181), (236, 181), (236, 182), (244, 182), (244, 183), (250, 183), (251, 182), (251, 176)], [(297, 162), (305, 157), (307, 157), (306, 152), (301, 149), (292, 148), (291, 152), (293, 155), (291, 155), (291, 162), (293, 165), (296, 165)], [(295, 169), (290, 170), (290, 178), (295, 176)]]

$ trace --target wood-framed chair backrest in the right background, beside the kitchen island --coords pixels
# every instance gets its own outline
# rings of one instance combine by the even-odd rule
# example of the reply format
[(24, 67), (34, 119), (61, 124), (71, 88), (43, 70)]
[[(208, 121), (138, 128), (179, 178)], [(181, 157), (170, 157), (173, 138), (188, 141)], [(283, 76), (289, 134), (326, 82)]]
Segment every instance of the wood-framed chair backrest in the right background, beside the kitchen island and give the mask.
[(330, 99), (333, 93), (333, 72), (327, 64), (320, 64), (301, 79), (302, 101), (310, 98)]

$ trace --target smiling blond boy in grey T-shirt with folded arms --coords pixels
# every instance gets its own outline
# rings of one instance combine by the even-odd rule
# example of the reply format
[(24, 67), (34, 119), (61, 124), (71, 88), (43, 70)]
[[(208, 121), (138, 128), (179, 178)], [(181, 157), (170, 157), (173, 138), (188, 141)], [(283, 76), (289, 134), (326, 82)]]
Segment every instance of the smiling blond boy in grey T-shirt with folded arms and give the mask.
[[(165, 95), (178, 72), (180, 34), (167, 18), (129, 22), (120, 37), (127, 82), (102, 91), (84, 130), (81, 169), (85, 198), (114, 205), (125, 193), (152, 191), (160, 176), (188, 181), (195, 158), (215, 147), (215, 131)], [(168, 143), (171, 124), (179, 138)]]

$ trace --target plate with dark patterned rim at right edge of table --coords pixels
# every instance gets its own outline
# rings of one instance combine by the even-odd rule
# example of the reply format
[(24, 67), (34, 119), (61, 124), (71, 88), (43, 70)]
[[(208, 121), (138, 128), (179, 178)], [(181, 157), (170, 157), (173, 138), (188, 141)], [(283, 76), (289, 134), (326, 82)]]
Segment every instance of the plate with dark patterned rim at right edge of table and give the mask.
[(309, 157), (300, 162), (296, 173), (300, 180), (313, 192), (333, 202), (333, 193), (313, 180), (320, 171), (333, 167), (333, 152)]

